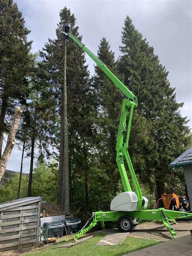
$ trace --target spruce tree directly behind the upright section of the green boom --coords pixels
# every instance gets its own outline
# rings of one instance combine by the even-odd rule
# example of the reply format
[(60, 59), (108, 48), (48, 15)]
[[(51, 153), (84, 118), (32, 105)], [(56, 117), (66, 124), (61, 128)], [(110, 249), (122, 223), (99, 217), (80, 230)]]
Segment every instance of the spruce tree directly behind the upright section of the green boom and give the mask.
[[(120, 80), (123, 81), (123, 76), (119, 75), (117, 72), (118, 62), (115, 63), (114, 53), (110, 50), (109, 42), (107, 42), (106, 38), (102, 38), (100, 42), (98, 57), (117, 77), (119, 77)], [(95, 66), (93, 81), (93, 87), (96, 90), (98, 97), (98, 119), (96, 124), (99, 127), (98, 140), (100, 140), (100, 143), (98, 149), (100, 150), (99, 158), (102, 163), (100, 168), (104, 169), (106, 175), (110, 177), (108, 189), (114, 196), (118, 190), (117, 181), (120, 180), (116, 163), (115, 147), (123, 97), (115, 88), (114, 83), (102, 72), (102, 70), (100, 70), (100, 68), (98, 68), (98, 66)], [(128, 88), (130, 88), (129, 85)], [(129, 152), (135, 172), (141, 173), (141, 181), (146, 181), (146, 177), (148, 176), (149, 166), (147, 166), (147, 160), (146, 162), (143, 161), (145, 151), (151, 151), (150, 144), (154, 143), (152, 139), (149, 138), (150, 129), (151, 125), (145, 121), (141, 113), (134, 110)], [(128, 170), (127, 172), (129, 175)]]

